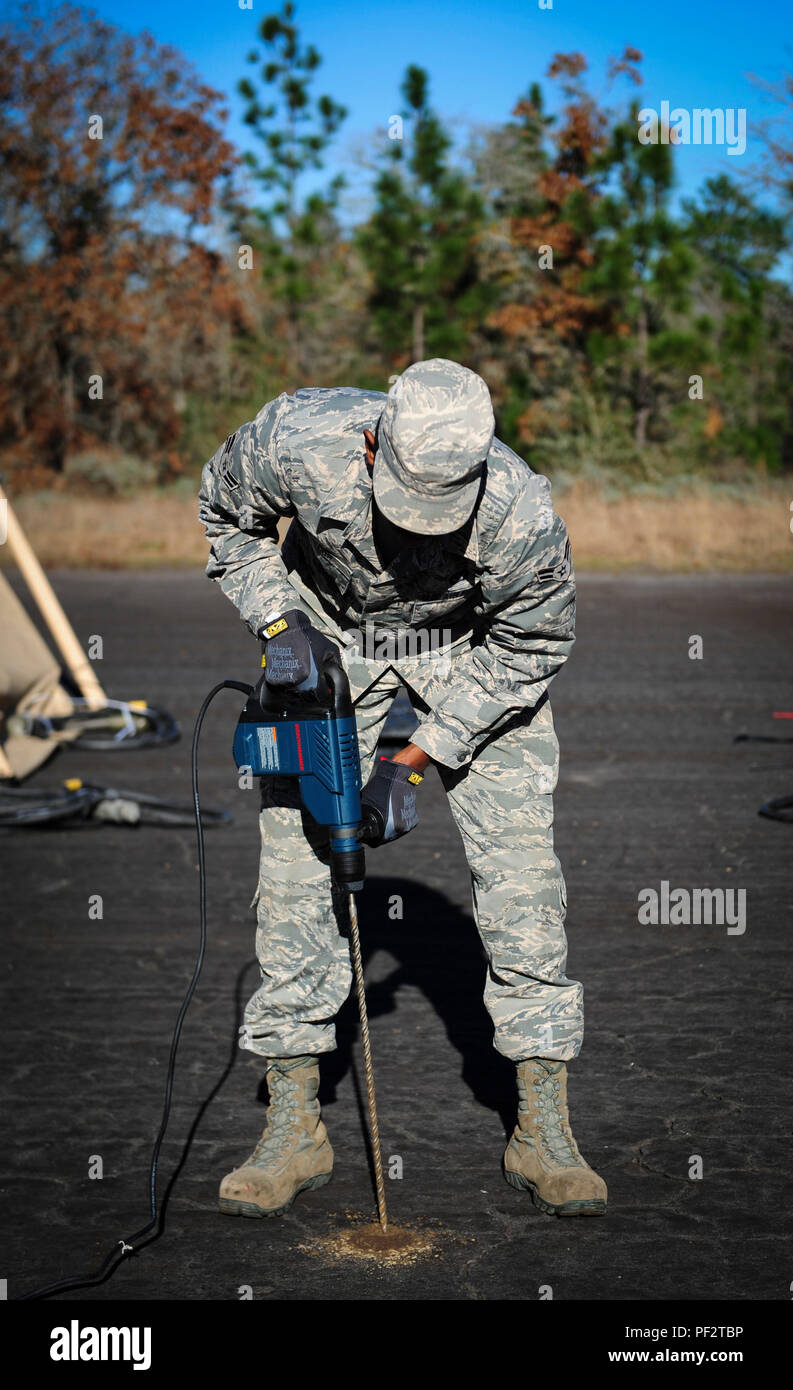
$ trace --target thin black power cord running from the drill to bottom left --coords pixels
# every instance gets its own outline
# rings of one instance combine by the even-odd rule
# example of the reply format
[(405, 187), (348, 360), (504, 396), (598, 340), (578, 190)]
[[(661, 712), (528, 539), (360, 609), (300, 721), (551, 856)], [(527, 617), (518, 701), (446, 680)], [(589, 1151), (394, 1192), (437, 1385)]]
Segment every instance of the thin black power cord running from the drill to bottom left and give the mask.
[[(157, 1138), (154, 1140), (151, 1166), (149, 1169), (149, 1201), (150, 1201), (151, 1218), (146, 1223), (146, 1226), (142, 1226), (140, 1230), (136, 1230), (132, 1236), (128, 1236), (124, 1240), (117, 1240), (115, 1245), (111, 1250), (108, 1250), (107, 1255), (101, 1261), (101, 1265), (99, 1266), (96, 1273), (75, 1275), (74, 1279), (58, 1279), (53, 1284), (43, 1284), (42, 1289), (33, 1289), (28, 1294), (19, 1294), (19, 1298), (15, 1300), (17, 1302), (25, 1302), (33, 1298), (50, 1298), (53, 1294), (65, 1293), (67, 1289), (87, 1289), (93, 1284), (104, 1283), (106, 1279), (110, 1279), (111, 1275), (115, 1273), (119, 1264), (122, 1262), (122, 1259), (125, 1259), (126, 1255), (133, 1255), (137, 1250), (142, 1250), (144, 1245), (149, 1244), (149, 1240), (144, 1240), (143, 1237), (149, 1236), (150, 1232), (154, 1232), (156, 1227), (160, 1226), (160, 1212), (157, 1209), (157, 1163), (160, 1161), (160, 1150), (162, 1147), (162, 1140), (165, 1138), (165, 1130), (168, 1129), (168, 1119), (171, 1115), (171, 1098), (174, 1094), (174, 1069), (176, 1065), (176, 1049), (179, 1047), (182, 1026), (185, 1023), (185, 1016), (190, 1006), (190, 999), (193, 998), (193, 994), (196, 992), (196, 986), (199, 984), (201, 966), (204, 963), (204, 954), (207, 949), (207, 863), (204, 856), (204, 830), (201, 824), (201, 808), (199, 802), (199, 737), (201, 733), (201, 724), (204, 723), (204, 714), (207, 713), (207, 709), (210, 708), (218, 691), (222, 689), (242, 691), (243, 695), (246, 696), (253, 695), (251, 687), (243, 684), (242, 681), (221, 681), (218, 685), (212, 687), (212, 689), (204, 699), (204, 703), (201, 705), (196, 716), (196, 726), (193, 728), (193, 748), (190, 755), (190, 766), (193, 774), (193, 809), (196, 816), (196, 838), (199, 842), (199, 885), (200, 885), (199, 895), (200, 895), (201, 929), (200, 929), (199, 954), (196, 956), (196, 965), (193, 966), (193, 976), (185, 992), (185, 998), (182, 999), (179, 1013), (176, 1015), (174, 1033), (171, 1036), (171, 1052), (168, 1056), (168, 1073), (165, 1077), (165, 1099), (162, 1104), (162, 1119), (160, 1122), (160, 1130)], [(160, 1230), (157, 1230), (157, 1234), (160, 1234)], [(156, 1237), (151, 1236), (150, 1238), (153, 1240)]]

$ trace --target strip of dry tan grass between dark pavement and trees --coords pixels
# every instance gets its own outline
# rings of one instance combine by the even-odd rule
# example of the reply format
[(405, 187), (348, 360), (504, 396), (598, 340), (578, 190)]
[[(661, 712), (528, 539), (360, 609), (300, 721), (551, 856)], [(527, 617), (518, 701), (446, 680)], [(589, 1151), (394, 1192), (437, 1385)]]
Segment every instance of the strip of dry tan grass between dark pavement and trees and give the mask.
[[(554, 502), (569, 527), (578, 570), (793, 570), (790, 486), (726, 495), (622, 493), (578, 482)], [(44, 569), (203, 567), (207, 542), (193, 496), (132, 500), (68, 493), (22, 496), (17, 514)], [(0, 556), (8, 563), (7, 552)]]

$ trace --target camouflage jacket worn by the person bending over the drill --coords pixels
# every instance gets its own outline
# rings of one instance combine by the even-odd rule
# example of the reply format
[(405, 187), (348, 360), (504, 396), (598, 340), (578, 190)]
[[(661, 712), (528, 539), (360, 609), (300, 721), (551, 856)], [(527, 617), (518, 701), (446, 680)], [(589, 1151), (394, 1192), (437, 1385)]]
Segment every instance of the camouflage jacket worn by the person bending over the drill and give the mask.
[[(362, 431), (376, 428), (385, 400), (378, 391), (306, 388), (236, 430), (201, 477), (207, 574), (254, 634), (304, 606), (290, 574), (342, 634), (369, 624), (386, 634), (446, 630), (454, 645), (442, 674), (415, 644), (385, 664), (429, 706), (412, 742), (461, 767), (510, 720), (531, 717), (569, 655), (569, 541), (547, 478), (494, 439), (468, 527), (428, 537), (383, 569)], [(283, 517), (292, 525), (279, 548)]]

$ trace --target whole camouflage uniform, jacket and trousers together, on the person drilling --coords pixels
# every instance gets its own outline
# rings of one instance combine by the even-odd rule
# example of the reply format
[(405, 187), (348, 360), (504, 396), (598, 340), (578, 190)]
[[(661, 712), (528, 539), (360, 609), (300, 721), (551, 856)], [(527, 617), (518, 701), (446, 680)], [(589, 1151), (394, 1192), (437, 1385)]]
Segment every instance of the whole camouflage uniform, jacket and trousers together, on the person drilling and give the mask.
[[(387, 396), (283, 393), (231, 435), (203, 473), (207, 573), (254, 634), (300, 607), (339, 642), (364, 780), (400, 680), (407, 685), (421, 719), (411, 742), (439, 767), (471, 869), (494, 1044), (514, 1061), (567, 1061), (581, 1048), (582, 988), (565, 976), (567, 899), (553, 851), (558, 744), (546, 694), (574, 642), (567, 531), (547, 480), (490, 428), (486, 467), (462, 489), (444, 495), (443, 470), (429, 477), (415, 530), (435, 525), (436, 534), (383, 567), (362, 431), (381, 424), (374, 491), (393, 514), (400, 459), (410, 457), (410, 441), (393, 428), (394, 395), (399, 382)], [(415, 499), (404, 470), (401, 482)], [(279, 548), (285, 517), (292, 524)], [(428, 630), (437, 639), (422, 651), (417, 634)], [(261, 795), (261, 984), (240, 1045), (267, 1058), (331, 1051), (351, 967), (326, 831), (300, 809), (293, 781), (264, 778)]]

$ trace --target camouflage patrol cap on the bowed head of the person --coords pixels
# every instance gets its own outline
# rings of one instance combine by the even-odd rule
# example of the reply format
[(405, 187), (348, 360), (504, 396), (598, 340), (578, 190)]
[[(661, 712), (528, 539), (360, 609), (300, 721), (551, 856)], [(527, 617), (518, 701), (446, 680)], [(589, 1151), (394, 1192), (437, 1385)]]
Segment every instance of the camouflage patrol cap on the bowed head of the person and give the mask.
[(468, 521), (496, 421), (475, 371), (431, 357), (394, 381), (378, 425), (372, 488), (394, 525), (425, 535)]

